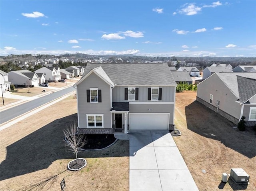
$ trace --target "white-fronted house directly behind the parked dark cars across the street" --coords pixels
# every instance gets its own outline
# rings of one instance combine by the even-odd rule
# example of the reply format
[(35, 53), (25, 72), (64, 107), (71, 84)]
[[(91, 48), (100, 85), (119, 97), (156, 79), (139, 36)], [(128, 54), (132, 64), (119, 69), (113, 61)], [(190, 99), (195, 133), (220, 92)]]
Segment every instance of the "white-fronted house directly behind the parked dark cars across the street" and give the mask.
[(45, 81), (55, 82), (60, 80), (60, 67), (42, 67), (35, 71), (35, 73), (43, 73)]

